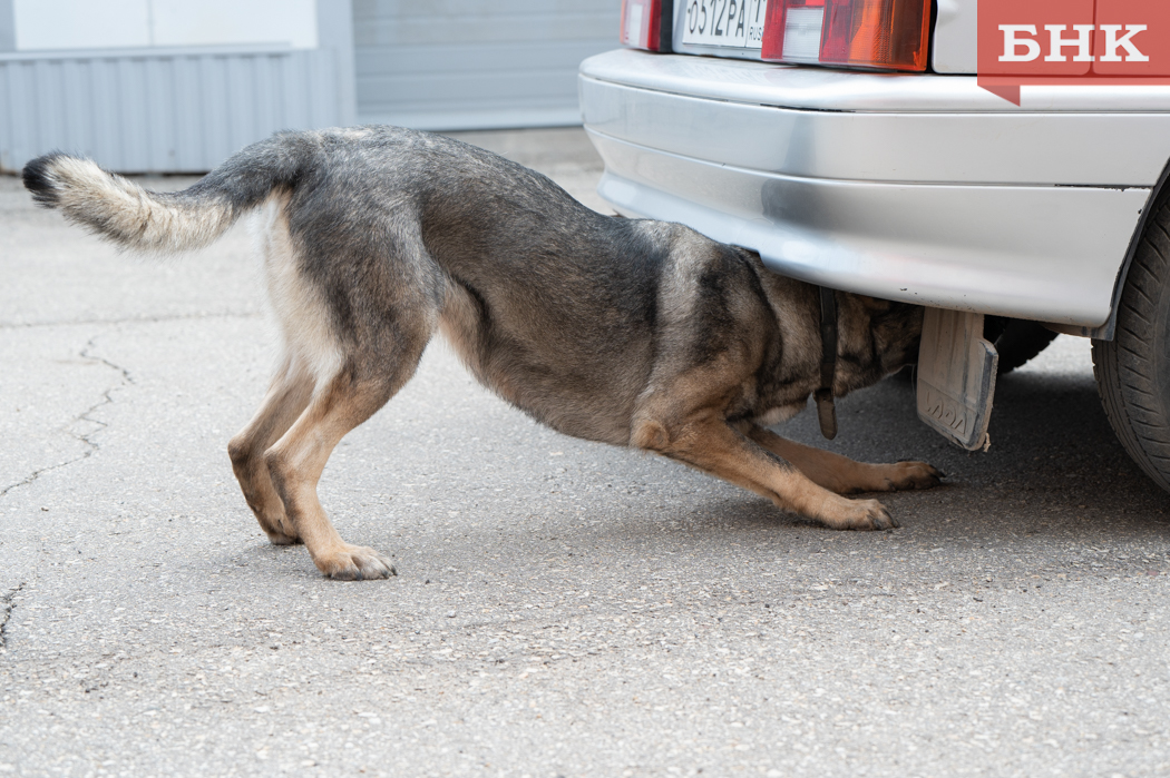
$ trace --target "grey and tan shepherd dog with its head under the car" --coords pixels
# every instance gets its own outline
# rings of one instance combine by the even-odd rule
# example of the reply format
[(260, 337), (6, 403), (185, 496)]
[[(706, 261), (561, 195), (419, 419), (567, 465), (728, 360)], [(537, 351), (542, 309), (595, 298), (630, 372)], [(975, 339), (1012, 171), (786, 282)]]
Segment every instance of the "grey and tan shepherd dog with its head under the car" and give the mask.
[[(280, 133), (166, 194), (60, 153), (29, 162), (23, 180), (37, 203), (140, 251), (204, 246), (259, 211), (283, 356), (228, 453), (268, 539), (303, 542), (332, 578), (394, 575), (384, 555), (340, 539), (317, 481), (338, 442), (411, 378), (436, 329), (536, 421), (676, 459), (834, 529), (897, 526), (876, 500), (840, 493), (942, 477), (765, 429), (820, 383), (815, 286), (680, 224), (594, 213), (449, 138), (387, 126)], [(921, 307), (831, 300), (833, 394), (914, 361)]]

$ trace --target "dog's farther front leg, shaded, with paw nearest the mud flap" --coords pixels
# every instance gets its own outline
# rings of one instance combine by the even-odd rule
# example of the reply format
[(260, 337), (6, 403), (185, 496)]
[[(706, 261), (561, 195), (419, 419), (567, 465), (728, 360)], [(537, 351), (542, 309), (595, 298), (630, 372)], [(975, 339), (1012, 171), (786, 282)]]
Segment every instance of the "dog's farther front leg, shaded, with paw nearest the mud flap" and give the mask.
[(838, 494), (929, 489), (938, 486), (943, 478), (937, 467), (924, 461), (874, 465), (794, 443), (750, 422), (738, 429), (749, 439), (796, 465), (815, 484)]

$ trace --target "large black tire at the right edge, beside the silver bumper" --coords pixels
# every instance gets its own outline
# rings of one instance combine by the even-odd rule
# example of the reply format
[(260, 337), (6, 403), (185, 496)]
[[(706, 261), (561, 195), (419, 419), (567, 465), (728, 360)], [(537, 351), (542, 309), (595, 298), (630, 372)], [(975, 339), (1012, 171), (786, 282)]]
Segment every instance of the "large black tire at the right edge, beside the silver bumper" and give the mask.
[(1109, 424), (1134, 461), (1170, 492), (1170, 199), (1142, 232), (1112, 341), (1093, 341)]

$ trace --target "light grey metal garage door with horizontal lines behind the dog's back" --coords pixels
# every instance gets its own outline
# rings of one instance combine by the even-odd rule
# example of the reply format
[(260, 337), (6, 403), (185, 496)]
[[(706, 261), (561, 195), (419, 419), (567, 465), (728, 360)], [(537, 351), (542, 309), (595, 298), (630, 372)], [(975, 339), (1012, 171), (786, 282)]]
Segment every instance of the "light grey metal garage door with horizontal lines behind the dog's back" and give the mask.
[(355, 0), (358, 120), (579, 124), (577, 65), (618, 47), (620, 16), (621, 0)]

